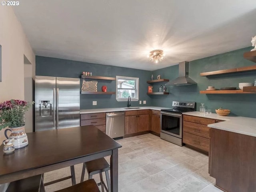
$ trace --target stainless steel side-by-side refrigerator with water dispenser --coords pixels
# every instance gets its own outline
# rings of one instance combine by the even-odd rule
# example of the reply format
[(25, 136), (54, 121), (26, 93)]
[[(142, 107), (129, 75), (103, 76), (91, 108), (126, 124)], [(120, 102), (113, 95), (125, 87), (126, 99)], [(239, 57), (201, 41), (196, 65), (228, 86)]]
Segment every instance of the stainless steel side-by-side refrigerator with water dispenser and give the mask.
[(80, 126), (80, 79), (36, 76), (35, 131)]

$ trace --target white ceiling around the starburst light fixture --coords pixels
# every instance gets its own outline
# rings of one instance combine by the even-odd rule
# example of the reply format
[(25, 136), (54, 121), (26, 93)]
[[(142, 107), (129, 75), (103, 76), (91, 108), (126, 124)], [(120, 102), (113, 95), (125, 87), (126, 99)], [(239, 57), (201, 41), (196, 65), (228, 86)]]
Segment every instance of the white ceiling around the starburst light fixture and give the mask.
[[(156, 70), (251, 46), (256, 0), (25, 0), (36, 55)], [(162, 49), (154, 64), (148, 52)]]

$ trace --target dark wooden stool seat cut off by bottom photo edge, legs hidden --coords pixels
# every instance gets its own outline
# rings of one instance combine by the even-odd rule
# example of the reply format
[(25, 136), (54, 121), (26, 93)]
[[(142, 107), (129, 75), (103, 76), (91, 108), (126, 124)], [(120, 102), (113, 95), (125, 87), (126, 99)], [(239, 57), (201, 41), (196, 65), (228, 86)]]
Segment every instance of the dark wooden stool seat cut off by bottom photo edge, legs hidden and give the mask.
[(86, 180), (71, 187), (56, 192), (100, 192), (94, 179)]

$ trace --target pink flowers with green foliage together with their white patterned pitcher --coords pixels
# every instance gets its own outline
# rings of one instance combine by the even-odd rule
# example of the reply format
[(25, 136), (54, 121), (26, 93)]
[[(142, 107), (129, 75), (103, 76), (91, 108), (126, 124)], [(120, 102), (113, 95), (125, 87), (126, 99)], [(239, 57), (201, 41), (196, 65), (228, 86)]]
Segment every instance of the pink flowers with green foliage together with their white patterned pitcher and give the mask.
[[(0, 103), (0, 130), (5, 130), (6, 138), (14, 138), (15, 149), (23, 148), (28, 145), (28, 137), (25, 133), (25, 112), (34, 102), (26, 102), (22, 100), (8, 100)], [(7, 136), (7, 131), (12, 133)]]

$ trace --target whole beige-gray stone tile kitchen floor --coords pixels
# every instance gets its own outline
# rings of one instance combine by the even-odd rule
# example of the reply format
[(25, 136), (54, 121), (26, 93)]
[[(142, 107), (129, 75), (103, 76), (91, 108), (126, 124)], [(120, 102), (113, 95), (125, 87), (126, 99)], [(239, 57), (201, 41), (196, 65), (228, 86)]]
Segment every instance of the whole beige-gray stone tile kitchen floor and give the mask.
[[(221, 192), (208, 174), (208, 156), (180, 147), (153, 134), (117, 140), (119, 192)], [(106, 158), (108, 161), (109, 157)], [(82, 164), (75, 166), (80, 182)], [(44, 182), (70, 175), (70, 168), (47, 172)], [(99, 175), (93, 177), (99, 182)], [(88, 179), (86, 174), (85, 180)], [(71, 180), (46, 186), (53, 192), (71, 186)]]

